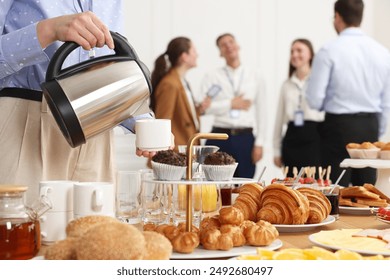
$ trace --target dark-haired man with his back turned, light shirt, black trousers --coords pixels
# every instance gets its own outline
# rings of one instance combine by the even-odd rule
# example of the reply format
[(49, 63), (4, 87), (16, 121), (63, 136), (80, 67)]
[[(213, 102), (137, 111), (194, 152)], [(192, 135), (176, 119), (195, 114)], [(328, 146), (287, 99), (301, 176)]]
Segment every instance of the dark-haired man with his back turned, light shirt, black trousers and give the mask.
[[(320, 127), (323, 165), (332, 166), (331, 180), (348, 158), (348, 143), (375, 142), (383, 135), (390, 113), (390, 53), (360, 29), (362, 0), (338, 0), (334, 27), (338, 38), (314, 57), (307, 101), (326, 112)], [(348, 170), (340, 185), (375, 183), (371, 168)]]

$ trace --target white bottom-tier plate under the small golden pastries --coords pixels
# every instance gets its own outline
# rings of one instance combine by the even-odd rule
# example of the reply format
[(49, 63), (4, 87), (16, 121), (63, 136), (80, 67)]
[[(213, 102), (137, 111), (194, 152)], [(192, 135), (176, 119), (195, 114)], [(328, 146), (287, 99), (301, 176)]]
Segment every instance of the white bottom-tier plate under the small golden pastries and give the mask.
[(241, 246), (234, 247), (229, 251), (219, 251), (219, 250), (205, 250), (202, 246), (196, 248), (191, 254), (180, 254), (173, 253), (171, 259), (180, 260), (180, 259), (216, 259), (216, 258), (228, 258), (236, 257), (240, 255), (250, 255), (256, 254), (256, 248), (262, 248), (266, 250), (277, 250), (282, 247), (283, 243), (280, 239), (276, 239), (268, 246)]

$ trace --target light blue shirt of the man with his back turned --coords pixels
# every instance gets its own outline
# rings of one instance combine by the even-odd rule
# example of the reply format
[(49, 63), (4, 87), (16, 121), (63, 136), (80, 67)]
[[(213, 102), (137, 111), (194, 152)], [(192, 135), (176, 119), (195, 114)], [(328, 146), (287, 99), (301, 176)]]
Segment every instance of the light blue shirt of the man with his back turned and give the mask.
[(347, 28), (315, 55), (306, 98), (333, 114), (379, 113), (380, 134), (390, 113), (390, 53), (360, 28)]

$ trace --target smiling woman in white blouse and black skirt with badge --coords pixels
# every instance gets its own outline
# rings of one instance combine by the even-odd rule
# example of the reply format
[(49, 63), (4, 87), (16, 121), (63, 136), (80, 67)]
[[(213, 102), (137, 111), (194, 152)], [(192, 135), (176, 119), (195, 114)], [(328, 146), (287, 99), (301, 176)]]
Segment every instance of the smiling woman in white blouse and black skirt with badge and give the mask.
[(288, 79), (283, 83), (274, 128), (274, 163), (293, 167), (320, 166), (320, 136), (318, 125), (324, 113), (311, 109), (304, 90), (310, 75), (314, 50), (307, 39), (296, 39), (291, 44)]

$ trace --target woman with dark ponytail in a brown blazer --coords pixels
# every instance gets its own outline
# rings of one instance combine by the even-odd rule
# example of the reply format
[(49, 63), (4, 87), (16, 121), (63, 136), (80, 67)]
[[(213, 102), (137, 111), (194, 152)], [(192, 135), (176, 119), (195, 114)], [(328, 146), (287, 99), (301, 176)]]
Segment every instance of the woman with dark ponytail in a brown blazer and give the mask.
[[(167, 50), (155, 61), (152, 72), (151, 108), (157, 119), (170, 119), (175, 136), (175, 150), (186, 145), (199, 132), (199, 115), (209, 106), (210, 100), (195, 104), (191, 88), (185, 79), (187, 71), (196, 67), (198, 54), (190, 39), (172, 39)], [(199, 144), (199, 143), (196, 143)]]

